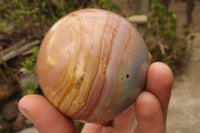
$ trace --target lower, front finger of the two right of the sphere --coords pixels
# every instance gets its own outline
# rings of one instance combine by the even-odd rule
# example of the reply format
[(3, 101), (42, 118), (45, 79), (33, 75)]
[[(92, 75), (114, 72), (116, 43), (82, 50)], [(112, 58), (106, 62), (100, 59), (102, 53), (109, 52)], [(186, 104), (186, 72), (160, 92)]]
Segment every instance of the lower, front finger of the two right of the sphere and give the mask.
[(158, 99), (150, 92), (142, 92), (136, 104), (137, 128), (134, 133), (164, 133), (165, 124)]

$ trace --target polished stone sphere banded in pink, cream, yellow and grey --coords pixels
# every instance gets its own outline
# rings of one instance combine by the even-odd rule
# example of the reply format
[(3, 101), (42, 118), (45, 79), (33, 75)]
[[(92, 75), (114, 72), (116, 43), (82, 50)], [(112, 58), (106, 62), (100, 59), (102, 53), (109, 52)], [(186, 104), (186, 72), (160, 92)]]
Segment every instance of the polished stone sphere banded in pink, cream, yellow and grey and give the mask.
[(144, 88), (145, 43), (123, 17), (83, 9), (56, 22), (39, 50), (37, 74), (48, 100), (75, 120), (105, 122), (127, 110)]

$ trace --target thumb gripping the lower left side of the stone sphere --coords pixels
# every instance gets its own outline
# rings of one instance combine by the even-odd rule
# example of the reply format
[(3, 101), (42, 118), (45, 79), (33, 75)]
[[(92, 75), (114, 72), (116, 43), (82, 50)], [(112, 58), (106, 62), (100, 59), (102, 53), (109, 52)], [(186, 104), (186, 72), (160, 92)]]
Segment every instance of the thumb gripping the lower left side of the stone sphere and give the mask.
[(76, 132), (72, 120), (63, 116), (43, 96), (25, 96), (19, 101), (18, 106), (40, 133)]

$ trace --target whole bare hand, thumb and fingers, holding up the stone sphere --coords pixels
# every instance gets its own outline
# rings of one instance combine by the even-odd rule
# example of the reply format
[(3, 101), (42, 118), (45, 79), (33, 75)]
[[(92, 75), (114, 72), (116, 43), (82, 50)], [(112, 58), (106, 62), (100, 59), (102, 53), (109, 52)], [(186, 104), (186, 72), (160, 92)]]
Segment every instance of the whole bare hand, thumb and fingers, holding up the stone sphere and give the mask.
[[(108, 123), (85, 123), (82, 133), (164, 133), (172, 84), (173, 74), (167, 65), (160, 62), (151, 64), (146, 90), (135, 104)], [(19, 101), (19, 110), (40, 133), (76, 133), (73, 121), (57, 111), (43, 96), (23, 97)]]

